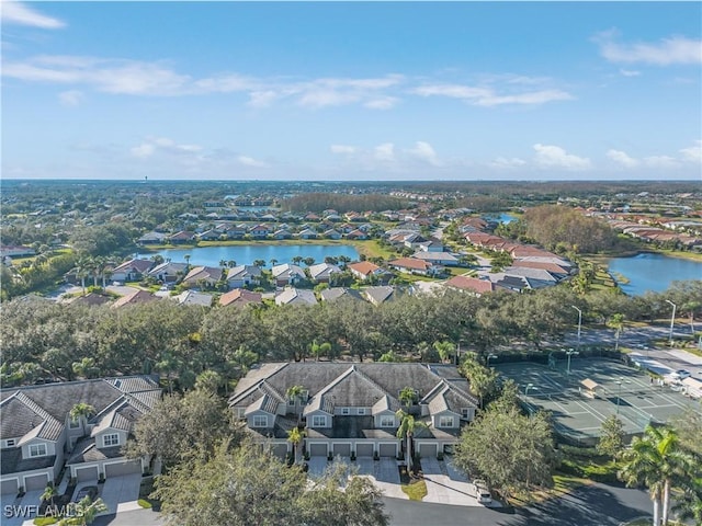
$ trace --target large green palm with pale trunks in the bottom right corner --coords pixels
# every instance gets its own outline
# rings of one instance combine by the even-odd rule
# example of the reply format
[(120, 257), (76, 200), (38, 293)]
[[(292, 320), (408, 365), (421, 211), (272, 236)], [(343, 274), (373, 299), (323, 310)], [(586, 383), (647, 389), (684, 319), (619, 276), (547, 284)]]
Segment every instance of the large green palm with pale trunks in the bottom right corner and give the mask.
[(648, 424), (643, 436), (635, 436), (624, 451), (619, 477), (629, 487), (648, 487), (654, 503), (654, 526), (668, 524), (670, 487), (678, 478), (689, 478), (694, 466), (692, 457), (682, 449), (676, 431), (668, 426)]

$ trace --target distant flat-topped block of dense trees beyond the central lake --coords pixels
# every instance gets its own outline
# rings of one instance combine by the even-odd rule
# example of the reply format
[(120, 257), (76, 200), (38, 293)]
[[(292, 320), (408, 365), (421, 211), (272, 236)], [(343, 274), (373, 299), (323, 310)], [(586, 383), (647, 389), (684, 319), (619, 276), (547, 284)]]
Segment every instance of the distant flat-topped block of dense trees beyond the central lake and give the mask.
[(403, 199), (383, 194), (331, 194), (309, 193), (301, 194), (281, 203), (281, 208), (288, 211), (382, 211), (399, 210), (407, 206)]

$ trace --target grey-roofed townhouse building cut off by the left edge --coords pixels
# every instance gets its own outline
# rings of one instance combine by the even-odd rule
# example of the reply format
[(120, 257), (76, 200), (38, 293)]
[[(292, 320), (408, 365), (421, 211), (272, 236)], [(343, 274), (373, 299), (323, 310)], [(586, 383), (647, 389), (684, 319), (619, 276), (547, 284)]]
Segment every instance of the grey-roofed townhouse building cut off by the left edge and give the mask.
[[(67, 465), (79, 482), (141, 474), (149, 458), (126, 459), (122, 446), (134, 423), (161, 397), (147, 376), (68, 381), (0, 390), (0, 485), (3, 495), (41, 491)], [(78, 402), (95, 414), (73, 422)]]

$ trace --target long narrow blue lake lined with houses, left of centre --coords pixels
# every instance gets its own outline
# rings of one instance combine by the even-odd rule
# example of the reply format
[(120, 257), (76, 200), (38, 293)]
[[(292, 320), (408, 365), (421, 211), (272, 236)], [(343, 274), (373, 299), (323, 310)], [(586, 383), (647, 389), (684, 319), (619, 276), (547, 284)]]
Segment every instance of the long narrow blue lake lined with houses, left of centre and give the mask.
[(359, 252), (349, 244), (237, 244), (231, 247), (196, 247), (188, 249), (163, 249), (158, 252), (140, 254), (140, 258), (151, 258), (160, 254), (173, 262), (185, 262), (185, 254), (190, 254), (191, 265), (219, 266), (219, 262), (234, 260), (237, 265), (251, 265), (256, 260), (265, 261), (270, 267), (271, 259), (278, 263), (292, 263), (296, 255), (314, 258), (315, 263), (324, 263), (328, 255), (338, 258), (346, 255), (351, 260), (359, 259)]

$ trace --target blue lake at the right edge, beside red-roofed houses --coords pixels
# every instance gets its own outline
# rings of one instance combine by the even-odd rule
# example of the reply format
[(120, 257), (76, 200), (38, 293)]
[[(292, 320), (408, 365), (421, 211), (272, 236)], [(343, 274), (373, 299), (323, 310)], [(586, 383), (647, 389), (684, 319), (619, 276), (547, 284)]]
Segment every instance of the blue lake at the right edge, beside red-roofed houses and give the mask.
[(661, 293), (673, 281), (702, 279), (702, 262), (661, 254), (614, 258), (608, 270), (614, 278), (621, 274), (629, 279), (627, 284), (620, 283), (620, 287), (630, 296), (641, 296), (647, 290)]

